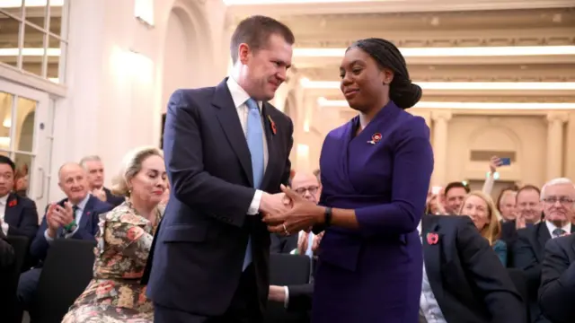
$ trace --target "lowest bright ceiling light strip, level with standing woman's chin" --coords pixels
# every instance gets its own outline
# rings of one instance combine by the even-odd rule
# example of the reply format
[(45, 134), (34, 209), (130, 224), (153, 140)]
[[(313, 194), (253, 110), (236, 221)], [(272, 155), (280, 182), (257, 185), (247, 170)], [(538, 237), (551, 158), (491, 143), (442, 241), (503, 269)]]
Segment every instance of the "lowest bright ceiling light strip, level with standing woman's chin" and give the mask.
[[(348, 108), (346, 100), (327, 100), (318, 98), (317, 104), (320, 107)], [(420, 101), (413, 108), (420, 109), (575, 109), (575, 102), (433, 102)]]

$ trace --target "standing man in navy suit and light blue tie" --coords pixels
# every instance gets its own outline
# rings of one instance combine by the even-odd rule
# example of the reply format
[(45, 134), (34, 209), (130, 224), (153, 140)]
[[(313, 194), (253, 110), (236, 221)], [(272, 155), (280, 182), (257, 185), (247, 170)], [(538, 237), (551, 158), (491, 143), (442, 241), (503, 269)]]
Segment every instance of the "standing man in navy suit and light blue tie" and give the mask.
[(172, 193), (148, 258), (155, 322), (262, 320), (270, 233), (261, 213), (287, 211), (279, 187), (288, 184), (293, 144), (291, 119), (268, 100), (286, 81), (294, 40), (276, 20), (247, 18), (232, 36), (231, 75), (170, 98)]

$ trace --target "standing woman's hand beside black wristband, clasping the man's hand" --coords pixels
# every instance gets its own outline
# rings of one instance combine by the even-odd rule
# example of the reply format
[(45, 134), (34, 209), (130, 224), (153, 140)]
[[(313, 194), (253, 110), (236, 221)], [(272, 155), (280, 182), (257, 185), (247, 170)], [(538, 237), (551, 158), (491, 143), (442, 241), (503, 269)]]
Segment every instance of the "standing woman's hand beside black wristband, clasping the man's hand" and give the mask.
[(264, 223), (268, 224), (270, 232), (290, 235), (300, 230), (310, 231), (314, 224), (323, 221), (324, 210), (322, 206), (315, 205), (283, 185), (281, 190), (291, 200), (292, 208), (285, 214), (266, 215), (262, 219)]

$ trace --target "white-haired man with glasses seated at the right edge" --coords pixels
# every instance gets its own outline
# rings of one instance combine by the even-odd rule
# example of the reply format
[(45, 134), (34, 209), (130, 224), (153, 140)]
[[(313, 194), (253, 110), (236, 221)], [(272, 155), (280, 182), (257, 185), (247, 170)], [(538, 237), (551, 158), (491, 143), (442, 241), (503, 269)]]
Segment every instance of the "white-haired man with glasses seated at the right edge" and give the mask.
[(548, 240), (572, 232), (570, 208), (574, 189), (570, 179), (552, 179), (545, 183), (540, 196), (544, 221), (517, 231), (518, 239), (513, 248), (513, 259), (514, 265), (526, 274), (532, 322), (549, 322), (544, 318), (537, 302), (544, 247)]

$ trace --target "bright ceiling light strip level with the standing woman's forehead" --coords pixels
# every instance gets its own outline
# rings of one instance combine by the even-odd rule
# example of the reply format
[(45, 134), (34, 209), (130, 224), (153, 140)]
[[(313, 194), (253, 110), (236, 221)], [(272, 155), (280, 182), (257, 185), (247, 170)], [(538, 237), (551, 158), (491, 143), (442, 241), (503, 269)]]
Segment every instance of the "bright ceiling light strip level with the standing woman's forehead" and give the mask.
[[(403, 57), (513, 57), (575, 55), (575, 46), (399, 48)], [(346, 48), (294, 48), (295, 57), (343, 57)]]

